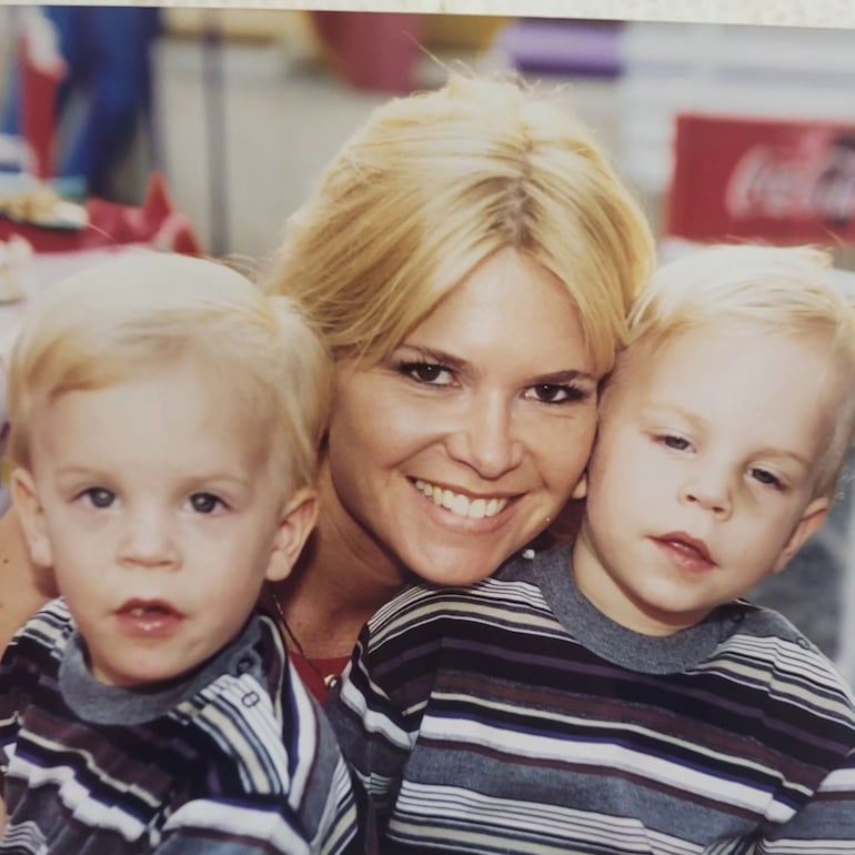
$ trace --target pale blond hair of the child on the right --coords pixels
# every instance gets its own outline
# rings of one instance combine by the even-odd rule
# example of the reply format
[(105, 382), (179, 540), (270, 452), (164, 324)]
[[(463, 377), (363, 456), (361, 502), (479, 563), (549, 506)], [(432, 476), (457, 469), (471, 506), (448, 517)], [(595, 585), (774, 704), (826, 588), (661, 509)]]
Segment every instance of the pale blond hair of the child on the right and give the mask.
[[(771, 332), (813, 336), (828, 346), (841, 402), (816, 495), (833, 495), (855, 435), (855, 305), (831, 271), (831, 255), (812, 247), (708, 247), (664, 264), (628, 316), (628, 349), (608, 385), (638, 353), (690, 329), (746, 320)], [(848, 385), (847, 385), (848, 384)], [(606, 403), (608, 393), (605, 395)]]

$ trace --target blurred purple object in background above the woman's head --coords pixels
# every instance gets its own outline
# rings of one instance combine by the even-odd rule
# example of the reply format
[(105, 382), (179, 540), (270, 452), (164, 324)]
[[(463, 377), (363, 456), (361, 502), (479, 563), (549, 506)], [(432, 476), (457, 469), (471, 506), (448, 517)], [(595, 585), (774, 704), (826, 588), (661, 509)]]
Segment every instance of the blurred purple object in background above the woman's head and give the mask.
[(517, 71), (549, 74), (616, 77), (621, 61), (622, 21), (522, 19), (497, 39)]

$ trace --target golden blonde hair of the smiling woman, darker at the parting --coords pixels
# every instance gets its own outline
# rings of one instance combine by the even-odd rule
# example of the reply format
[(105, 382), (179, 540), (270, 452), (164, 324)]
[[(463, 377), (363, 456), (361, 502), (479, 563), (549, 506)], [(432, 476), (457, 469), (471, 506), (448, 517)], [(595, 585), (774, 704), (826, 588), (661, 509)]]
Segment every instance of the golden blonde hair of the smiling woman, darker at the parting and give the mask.
[(653, 266), (642, 211), (557, 92), (452, 76), (353, 134), (286, 223), (265, 285), (305, 304), (334, 359), (378, 361), (505, 248), (563, 283), (611, 369)]

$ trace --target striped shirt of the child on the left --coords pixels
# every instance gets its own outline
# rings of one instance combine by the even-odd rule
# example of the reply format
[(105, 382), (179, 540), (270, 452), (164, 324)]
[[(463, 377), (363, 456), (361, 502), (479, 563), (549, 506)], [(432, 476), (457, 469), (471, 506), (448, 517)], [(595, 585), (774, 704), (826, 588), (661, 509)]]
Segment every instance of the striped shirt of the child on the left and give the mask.
[(349, 774), (275, 624), (157, 691), (89, 674), (61, 600), (0, 665), (0, 853), (249, 855), (355, 848)]

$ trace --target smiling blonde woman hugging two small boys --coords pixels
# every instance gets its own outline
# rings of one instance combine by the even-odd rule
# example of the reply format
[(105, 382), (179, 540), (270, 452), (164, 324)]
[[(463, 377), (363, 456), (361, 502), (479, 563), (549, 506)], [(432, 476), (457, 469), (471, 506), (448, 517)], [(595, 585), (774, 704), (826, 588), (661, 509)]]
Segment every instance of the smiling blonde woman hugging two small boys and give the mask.
[[(410, 573), (479, 581), (584, 495), (597, 383), (653, 259), (557, 94), (453, 77), (344, 144), (265, 283), (303, 301), (336, 361), (321, 519), (266, 596), (319, 696)], [(3, 589), (29, 580), (26, 610), (0, 592), (11, 631), (43, 583), (17, 522), (0, 526)]]

